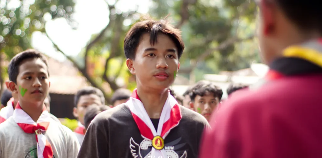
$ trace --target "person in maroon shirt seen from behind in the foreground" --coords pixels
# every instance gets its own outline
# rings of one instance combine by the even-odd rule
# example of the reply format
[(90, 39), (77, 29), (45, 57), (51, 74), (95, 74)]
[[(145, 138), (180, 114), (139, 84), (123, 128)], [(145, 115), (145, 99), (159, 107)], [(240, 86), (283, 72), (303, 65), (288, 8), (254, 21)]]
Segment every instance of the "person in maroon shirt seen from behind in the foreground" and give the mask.
[(200, 158), (322, 157), (322, 10), (318, 1), (260, 0), (270, 71), (211, 118)]

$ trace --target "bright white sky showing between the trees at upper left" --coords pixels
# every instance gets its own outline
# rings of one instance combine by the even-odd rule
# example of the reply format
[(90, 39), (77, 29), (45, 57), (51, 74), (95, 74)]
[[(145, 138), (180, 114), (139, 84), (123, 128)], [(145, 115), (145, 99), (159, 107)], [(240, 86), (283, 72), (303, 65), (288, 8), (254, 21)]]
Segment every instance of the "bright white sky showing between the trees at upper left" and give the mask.
[[(44, 15), (46, 31), (56, 45), (67, 55), (75, 56), (89, 42), (92, 34), (99, 33), (109, 23), (109, 10), (104, 0), (74, 0), (73, 19), (78, 22), (76, 30), (72, 30), (63, 18), (51, 20), (48, 15)], [(109, 4), (114, 4), (115, 0), (106, 0)], [(151, 0), (119, 0), (115, 5), (121, 11), (129, 11), (138, 7), (139, 13), (147, 13)], [(50, 16), (50, 15), (49, 15)], [(63, 61), (66, 58), (62, 53), (57, 52), (51, 41), (37, 31), (32, 36), (32, 46), (41, 52)]]

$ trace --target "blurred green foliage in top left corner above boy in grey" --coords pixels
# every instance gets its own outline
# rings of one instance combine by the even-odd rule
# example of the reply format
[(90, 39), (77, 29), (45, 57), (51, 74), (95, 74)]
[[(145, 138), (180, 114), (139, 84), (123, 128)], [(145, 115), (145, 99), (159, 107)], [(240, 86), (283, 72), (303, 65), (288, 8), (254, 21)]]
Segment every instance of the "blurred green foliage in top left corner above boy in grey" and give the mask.
[[(46, 18), (70, 18), (73, 0), (1, 0), (0, 2), (0, 84), (3, 91), (7, 68), (4, 60), (31, 48), (30, 39), (34, 31), (44, 32)], [(1, 94), (1, 93), (0, 93)]]

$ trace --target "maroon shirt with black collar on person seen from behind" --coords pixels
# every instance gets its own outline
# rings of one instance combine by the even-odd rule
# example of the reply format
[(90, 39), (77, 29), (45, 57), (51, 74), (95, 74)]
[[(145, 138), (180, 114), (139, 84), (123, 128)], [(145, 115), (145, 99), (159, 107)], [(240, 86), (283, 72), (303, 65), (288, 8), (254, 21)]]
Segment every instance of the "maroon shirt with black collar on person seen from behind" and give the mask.
[(273, 64), (285, 76), (234, 93), (212, 118), (200, 158), (322, 157), (322, 67)]

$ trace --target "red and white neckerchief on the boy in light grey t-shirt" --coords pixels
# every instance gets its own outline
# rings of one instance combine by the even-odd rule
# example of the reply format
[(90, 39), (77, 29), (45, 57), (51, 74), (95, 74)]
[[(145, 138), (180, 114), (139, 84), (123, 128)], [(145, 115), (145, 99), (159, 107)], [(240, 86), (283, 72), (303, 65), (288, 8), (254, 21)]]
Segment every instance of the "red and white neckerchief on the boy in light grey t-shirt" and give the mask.
[(21, 127), (22, 130), (26, 133), (36, 135), (37, 140), (37, 156), (38, 158), (52, 158), (52, 146), (46, 140), (46, 136), (43, 135), (49, 126), (49, 122), (51, 120), (49, 116), (49, 112), (46, 108), (43, 108), (43, 113), (40, 115), (37, 123), (33, 121), (33, 119), (21, 109), (19, 102), (17, 103), (16, 108), (14, 109), (14, 114), (12, 115), (14, 121)]

